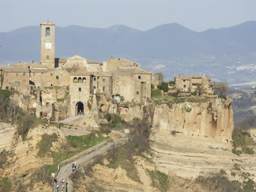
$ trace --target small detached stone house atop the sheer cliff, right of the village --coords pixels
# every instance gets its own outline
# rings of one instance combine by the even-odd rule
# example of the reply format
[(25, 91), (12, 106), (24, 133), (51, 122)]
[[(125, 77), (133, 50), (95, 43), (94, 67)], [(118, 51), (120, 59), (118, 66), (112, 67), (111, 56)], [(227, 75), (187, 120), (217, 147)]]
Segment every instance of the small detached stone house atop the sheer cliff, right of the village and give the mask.
[(182, 92), (214, 93), (214, 82), (204, 75), (175, 75), (174, 84)]

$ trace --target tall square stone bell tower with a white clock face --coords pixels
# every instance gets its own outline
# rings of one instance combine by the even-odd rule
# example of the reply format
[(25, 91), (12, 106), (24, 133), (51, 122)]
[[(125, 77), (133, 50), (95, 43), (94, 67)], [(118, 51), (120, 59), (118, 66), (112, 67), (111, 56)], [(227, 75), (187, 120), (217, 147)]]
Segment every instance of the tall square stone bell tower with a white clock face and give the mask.
[(41, 26), (41, 63), (53, 69), (55, 62), (55, 23), (45, 21)]

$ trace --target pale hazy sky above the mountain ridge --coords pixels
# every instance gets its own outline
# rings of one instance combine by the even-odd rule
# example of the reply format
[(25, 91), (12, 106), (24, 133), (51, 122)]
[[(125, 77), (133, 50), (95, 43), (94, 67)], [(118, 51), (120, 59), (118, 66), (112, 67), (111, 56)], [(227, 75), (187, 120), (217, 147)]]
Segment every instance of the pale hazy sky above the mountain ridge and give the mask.
[(148, 30), (177, 22), (195, 31), (256, 20), (255, 0), (0, 0), (0, 31), (36, 26), (107, 28), (126, 25)]

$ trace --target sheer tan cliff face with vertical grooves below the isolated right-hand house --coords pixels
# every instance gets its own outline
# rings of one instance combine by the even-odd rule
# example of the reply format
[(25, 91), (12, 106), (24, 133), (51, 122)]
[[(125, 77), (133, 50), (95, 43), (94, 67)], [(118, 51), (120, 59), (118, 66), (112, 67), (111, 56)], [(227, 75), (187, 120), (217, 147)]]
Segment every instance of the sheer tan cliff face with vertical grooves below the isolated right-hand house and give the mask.
[(231, 143), (234, 129), (232, 100), (208, 99), (200, 102), (162, 103), (154, 107), (152, 139), (159, 133), (214, 138)]

